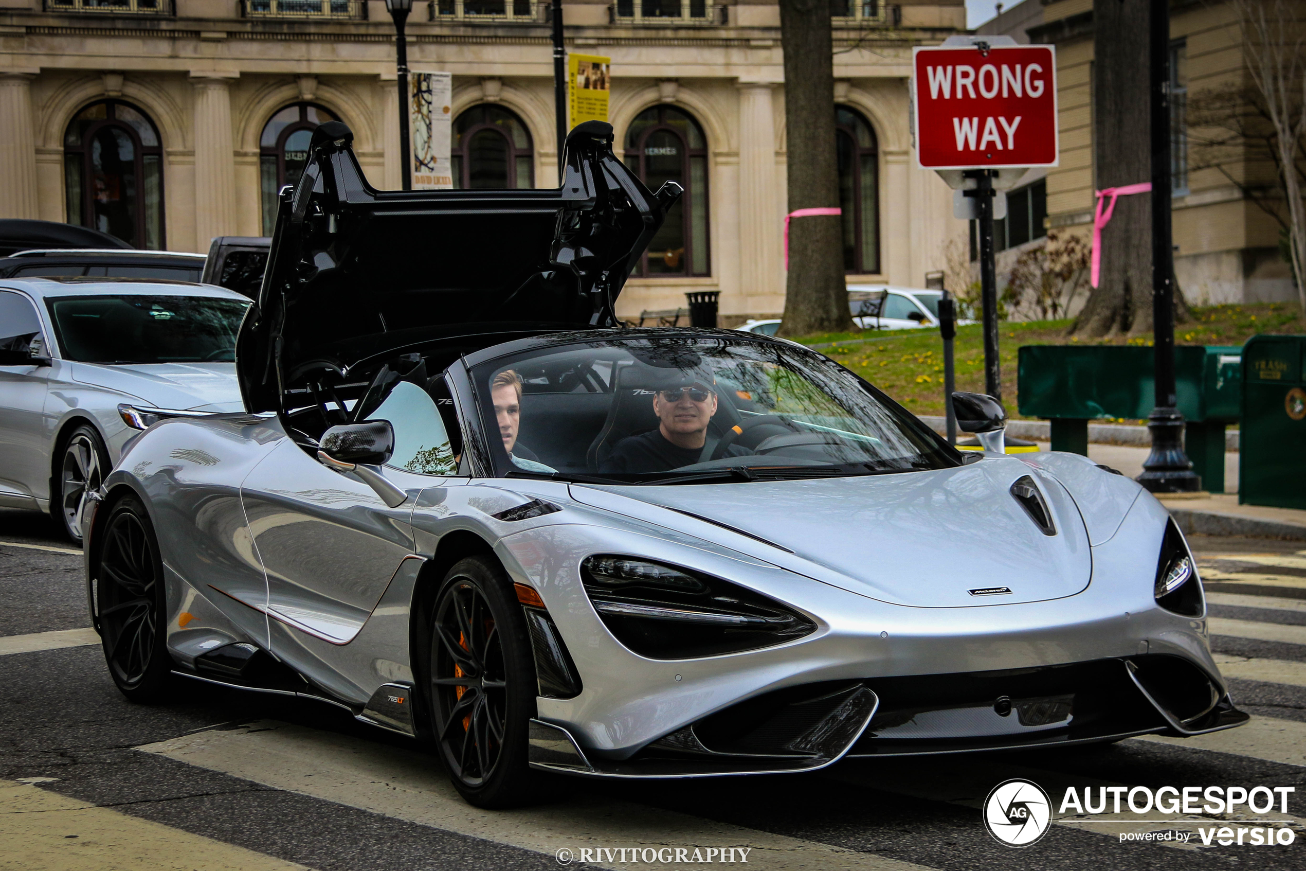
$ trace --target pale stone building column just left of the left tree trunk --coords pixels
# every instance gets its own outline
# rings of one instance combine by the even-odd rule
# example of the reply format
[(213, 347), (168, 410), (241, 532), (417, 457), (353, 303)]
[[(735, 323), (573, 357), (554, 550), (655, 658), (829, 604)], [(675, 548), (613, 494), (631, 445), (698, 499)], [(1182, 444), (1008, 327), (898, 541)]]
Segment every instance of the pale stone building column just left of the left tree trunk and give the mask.
[[(784, 299), (780, 245), (782, 213), (776, 196), (776, 118), (771, 82), (739, 82), (739, 289), (748, 312)], [(759, 308), (760, 307), (760, 308)]]

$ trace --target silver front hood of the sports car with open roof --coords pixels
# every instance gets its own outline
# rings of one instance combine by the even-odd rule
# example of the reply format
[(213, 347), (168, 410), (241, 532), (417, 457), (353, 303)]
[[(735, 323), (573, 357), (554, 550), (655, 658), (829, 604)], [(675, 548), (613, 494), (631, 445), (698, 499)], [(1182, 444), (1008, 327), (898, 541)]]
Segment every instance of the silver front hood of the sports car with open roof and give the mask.
[[(1011, 495), (1011, 486), (1025, 475), (1043, 492), (1055, 535), (1045, 535)], [(1084, 590), (1092, 573), (1088, 535), (1074, 500), (1050, 475), (1007, 457), (859, 478), (571, 490), (577, 501), (710, 537), (895, 605), (968, 607), (1055, 599)], [(682, 516), (661, 512), (656, 517), (640, 505)], [(743, 535), (725, 533), (726, 541), (720, 529), (712, 534), (709, 526), (683, 515)], [(970, 593), (991, 588), (1011, 593)]]

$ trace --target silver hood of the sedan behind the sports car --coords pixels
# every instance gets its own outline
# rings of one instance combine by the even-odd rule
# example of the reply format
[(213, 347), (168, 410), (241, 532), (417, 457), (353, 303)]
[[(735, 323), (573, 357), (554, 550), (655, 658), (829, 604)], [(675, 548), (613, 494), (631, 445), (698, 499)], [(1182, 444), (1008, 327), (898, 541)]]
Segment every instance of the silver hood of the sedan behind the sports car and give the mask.
[(240, 411), (235, 363), (73, 363), (74, 381), (136, 397), (157, 409)]

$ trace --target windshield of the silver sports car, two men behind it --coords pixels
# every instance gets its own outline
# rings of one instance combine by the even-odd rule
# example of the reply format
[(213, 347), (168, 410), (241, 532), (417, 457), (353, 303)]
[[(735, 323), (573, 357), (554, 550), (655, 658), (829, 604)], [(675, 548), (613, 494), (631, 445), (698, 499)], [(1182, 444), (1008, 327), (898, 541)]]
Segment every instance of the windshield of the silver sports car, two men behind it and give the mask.
[(577, 342), (485, 363), (474, 381), (499, 475), (707, 483), (961, 464), (848, 370), (765, 340)]

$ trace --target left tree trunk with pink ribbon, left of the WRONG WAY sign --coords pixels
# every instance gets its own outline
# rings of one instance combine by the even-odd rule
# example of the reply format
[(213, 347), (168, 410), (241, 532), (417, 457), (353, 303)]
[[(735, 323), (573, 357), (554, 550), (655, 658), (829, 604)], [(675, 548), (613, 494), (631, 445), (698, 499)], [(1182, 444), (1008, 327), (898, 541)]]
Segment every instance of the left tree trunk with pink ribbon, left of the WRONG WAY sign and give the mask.
[[(829, 0), (780, 0), (789, 208), (838, 208)], [(793, 218), (781, 336), (853, 329), (837, 214)]]

